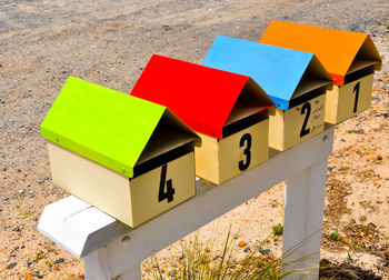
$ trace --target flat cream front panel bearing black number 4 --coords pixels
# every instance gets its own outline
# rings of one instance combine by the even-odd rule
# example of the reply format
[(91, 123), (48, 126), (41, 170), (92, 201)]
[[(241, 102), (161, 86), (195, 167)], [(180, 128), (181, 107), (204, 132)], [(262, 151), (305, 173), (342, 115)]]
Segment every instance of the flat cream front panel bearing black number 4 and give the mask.
[(132, 224), (137, 227), (196, 194), (194, 153), (130, 180)]

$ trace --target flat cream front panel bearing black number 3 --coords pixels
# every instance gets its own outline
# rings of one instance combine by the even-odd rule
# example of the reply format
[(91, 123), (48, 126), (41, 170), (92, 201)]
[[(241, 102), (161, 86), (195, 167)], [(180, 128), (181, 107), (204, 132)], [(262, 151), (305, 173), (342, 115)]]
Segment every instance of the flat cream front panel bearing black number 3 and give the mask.
[(269, 159), (269, 119), (219, 141), (219, 183)]

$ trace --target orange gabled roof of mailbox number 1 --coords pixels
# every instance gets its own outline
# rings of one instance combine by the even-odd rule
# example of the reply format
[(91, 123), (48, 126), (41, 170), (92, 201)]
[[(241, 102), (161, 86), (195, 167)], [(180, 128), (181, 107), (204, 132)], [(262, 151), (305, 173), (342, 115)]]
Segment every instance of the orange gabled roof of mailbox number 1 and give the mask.
[[(358, 60), (365, 60), (363, 66), (375, 64), (379, 70), (382, 63), (372, 40), (365, 33), (271, 21), (260, 42), (315, 53), (340, 86), (352, 70), (357, 54)], [(355, 68), (359, 70), (362, 64), (357, 62)]]

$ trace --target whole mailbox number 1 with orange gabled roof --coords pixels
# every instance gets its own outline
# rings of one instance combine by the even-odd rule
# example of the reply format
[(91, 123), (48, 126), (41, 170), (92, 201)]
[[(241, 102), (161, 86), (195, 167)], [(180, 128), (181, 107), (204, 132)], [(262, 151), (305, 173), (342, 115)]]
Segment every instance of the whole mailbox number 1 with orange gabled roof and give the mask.
[(368, 34), (272, 21), (261, 43), (312, 52), (333, 79), (326, 122), (337, 124), (368, 109), (381, 58)]

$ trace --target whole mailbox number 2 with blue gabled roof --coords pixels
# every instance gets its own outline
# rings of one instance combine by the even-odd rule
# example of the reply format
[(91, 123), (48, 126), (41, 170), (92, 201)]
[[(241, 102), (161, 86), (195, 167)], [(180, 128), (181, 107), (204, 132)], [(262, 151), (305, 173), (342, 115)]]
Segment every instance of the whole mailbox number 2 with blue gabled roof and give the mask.
[(249, 76), (269, 94), (271, 148), (283, 151), (323, 131), (332, 81), (312, 53), (218, 36), (202, 64)]

